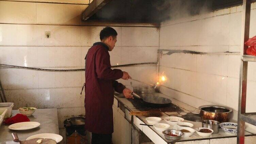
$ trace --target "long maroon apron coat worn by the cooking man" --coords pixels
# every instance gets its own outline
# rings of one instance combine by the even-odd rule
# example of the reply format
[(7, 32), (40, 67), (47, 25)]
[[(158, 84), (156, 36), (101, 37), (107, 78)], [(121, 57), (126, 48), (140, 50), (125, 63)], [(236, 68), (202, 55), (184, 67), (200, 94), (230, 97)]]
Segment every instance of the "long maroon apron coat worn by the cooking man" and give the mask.
[(114, 90), (122, 93), (125, 86), (116, 79), (123, 72), (111, 69), (108, 46), (94, 43), (85, 62), (85, 129), (98, 134), (113, 133)]

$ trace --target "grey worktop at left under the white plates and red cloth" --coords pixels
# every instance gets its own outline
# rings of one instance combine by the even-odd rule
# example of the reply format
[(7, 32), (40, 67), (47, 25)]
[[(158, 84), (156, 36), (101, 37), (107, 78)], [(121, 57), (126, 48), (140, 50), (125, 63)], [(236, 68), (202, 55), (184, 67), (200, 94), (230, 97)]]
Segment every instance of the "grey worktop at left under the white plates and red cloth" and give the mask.
[[(12, 111), (12, 116), (19, 113), (18, 110)], [(0, 143), (12, 141), (12, 132), (18, 134), (19, 140), (26, 140), (28, 137), (39, 133), (59, 134), (57, 109), (37, 109), (31, 116), (28, 116), (31, 122), (38, 122), (40, 126), (30, 130), (11, 130), (9, 125), (2, 124), (0, 127)]]

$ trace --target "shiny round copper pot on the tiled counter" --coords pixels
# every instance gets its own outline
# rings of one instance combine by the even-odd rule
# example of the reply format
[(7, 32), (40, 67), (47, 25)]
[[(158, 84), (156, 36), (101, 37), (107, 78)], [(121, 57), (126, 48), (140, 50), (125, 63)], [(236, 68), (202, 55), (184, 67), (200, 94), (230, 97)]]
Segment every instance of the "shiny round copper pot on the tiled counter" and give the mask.
[(233, 111), (231, 108), (218, 105), (204, 105), (199, 109), (202, 120), (214, 120), (221, 123), (228, 122)]

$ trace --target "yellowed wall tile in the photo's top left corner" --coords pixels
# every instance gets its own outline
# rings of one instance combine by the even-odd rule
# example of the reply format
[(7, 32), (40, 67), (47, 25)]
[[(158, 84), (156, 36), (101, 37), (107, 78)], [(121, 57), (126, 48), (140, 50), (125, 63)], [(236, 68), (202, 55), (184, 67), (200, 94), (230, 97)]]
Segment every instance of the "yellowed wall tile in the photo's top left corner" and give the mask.
[(36, 3), (0, 1), (1, 23), (36, 23)]

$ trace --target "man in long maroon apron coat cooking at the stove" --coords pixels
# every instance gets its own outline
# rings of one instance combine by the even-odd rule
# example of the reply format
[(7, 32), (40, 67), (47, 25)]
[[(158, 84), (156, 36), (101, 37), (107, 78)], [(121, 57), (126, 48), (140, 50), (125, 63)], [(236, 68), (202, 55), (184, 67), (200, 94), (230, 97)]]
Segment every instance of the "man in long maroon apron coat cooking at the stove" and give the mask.
[(85, 61), (85, 129), (92, 132), (92, 144), (111, 144), (113, 133), (114, 90), (133, 98), (132, 91), (116, 80), (130, 78), (127, 72), (111, 69), (110, 55), (117, 32), (106, 27), (86, 54)]

